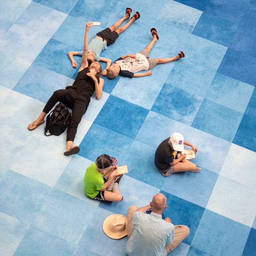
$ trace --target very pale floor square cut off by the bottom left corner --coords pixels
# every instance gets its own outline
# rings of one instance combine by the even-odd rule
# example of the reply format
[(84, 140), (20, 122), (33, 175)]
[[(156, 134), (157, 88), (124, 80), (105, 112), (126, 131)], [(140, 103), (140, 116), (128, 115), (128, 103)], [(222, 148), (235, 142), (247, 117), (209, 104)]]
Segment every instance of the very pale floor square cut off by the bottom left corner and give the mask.
[(1, 255), (13, 255), (29, 229), (29, 225), (25, 225), (24, 222), (9, 215), (0, 213), (0, 226)]

